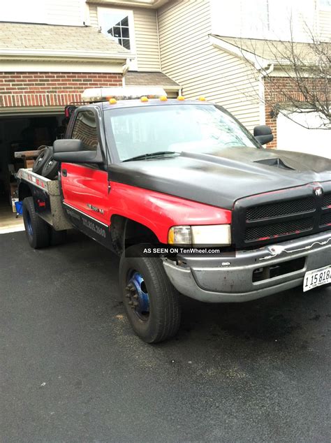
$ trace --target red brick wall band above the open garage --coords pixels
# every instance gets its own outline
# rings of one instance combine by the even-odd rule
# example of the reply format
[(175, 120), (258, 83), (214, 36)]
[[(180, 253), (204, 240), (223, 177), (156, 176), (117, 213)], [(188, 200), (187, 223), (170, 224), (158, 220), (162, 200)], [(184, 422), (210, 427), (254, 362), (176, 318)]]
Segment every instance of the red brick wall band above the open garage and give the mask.
[(81, 101), (89, 87), (122, 86), (122, 75), (111, 73), (0, 72), (0, 108), (65, 106)]

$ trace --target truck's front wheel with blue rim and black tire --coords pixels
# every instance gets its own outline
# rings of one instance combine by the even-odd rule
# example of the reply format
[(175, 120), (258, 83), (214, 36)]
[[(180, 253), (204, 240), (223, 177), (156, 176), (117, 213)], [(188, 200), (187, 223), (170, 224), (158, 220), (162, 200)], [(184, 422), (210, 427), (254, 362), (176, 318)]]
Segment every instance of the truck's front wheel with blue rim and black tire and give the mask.
[(147, 343), (173, 337), (180, 324), (179, 297), (161, 259), (126, 252), (119, 263), (119, 286), (133, 330)]

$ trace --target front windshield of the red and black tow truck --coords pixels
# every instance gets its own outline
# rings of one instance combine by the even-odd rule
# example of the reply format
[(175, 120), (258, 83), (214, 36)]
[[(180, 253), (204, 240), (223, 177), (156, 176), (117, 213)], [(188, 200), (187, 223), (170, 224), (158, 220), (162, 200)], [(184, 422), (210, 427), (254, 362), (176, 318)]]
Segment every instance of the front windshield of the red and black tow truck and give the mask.
[(106, 136), (120, 161), (154, 152), (213, 154), (223, 147), (258, 147), (249, 132), (214, 105), (166, 105), (105, 112)]

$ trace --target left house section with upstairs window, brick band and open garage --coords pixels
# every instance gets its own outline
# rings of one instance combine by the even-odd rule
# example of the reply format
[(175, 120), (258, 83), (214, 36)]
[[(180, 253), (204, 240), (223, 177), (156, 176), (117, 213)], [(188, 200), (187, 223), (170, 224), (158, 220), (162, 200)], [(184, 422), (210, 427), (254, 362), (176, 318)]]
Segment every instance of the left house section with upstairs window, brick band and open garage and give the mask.
[[(63, 137), (64, 106), (81, 101), (84, 89), (148, 84), (179, 94), (180, 85), (161, 72), (156, 9), (141, 7), (148, 3), (162, 1), (1, 4), (0, 198), (6, 204), (23, 166), (14, 152)], [(128, 66), (133, 71), (124, 78)]]

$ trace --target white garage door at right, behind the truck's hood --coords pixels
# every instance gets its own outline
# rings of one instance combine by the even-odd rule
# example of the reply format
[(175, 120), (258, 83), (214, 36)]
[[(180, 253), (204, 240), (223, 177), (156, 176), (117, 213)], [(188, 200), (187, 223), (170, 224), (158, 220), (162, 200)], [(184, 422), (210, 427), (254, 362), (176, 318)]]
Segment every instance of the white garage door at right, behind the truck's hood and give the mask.
[(277, 117), (277, 148), (331, 159), (331, 129), (302, 127), (321, 126), (322, 119), (318, 113), (291, 112), (290, 118), (281, 113)]

